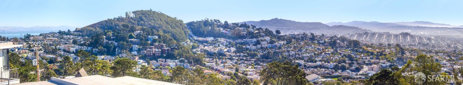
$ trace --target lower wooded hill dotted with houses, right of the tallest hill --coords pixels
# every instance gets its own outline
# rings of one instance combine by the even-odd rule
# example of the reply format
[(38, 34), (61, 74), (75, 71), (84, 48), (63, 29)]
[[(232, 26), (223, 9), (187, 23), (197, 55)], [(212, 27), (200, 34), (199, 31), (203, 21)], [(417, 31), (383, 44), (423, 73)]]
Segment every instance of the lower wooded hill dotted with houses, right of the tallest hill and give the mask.
[(273, 31), (267, 28), (257, 28), (246, 23), (224, 23), (217, 19), (203, 19), (186, 23), (191, 32), (198, 37), (215, 37), (226, 39), (249, 39), (260, 37), (275, 37)]

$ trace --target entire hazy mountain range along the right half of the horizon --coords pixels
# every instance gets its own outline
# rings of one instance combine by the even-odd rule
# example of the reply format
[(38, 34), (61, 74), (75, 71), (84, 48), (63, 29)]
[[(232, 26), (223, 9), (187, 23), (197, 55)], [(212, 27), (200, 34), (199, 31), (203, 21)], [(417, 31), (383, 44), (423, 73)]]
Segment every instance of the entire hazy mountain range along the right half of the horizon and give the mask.
[(269, 28), (270, 30), (282, 30), (282, 34), (298, 34), (302, 32), (316, 34), (354, 34), (363, 32), (389, 32), (394, 34), (411, 33), (419, 35), (441, 35), (450, 37), (463, 37), (463, 26), (432, 23), (425, 21), (415, 22), (364, 22), (352, 21), (347, 23), (331, 22), (297, 22), (286, 19), (274, 18), (261, 21), (240, 22), (252, 24), (256, 27)]

